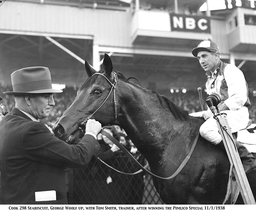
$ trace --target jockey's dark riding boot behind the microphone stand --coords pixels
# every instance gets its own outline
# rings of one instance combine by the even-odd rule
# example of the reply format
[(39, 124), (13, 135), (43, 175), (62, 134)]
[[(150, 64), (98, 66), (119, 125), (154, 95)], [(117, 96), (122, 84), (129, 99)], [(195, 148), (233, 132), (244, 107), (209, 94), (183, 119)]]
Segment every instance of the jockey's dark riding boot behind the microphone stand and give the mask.
[[(240, 157), (243, 167), (244, 167), (244, 172), (245, 172), (245, 174), (247, 174), (256, 168), (256, 158), (252, 155), (251, 152), (249, 152), (246, 149), (246, 147), (244, 147), (244, 145), (242, 145), (240, 142), (236, 141), (236, 139), (234, 139), (234, 140), (236, 142), (237, 152), (239, 154), (239, 157)], [(223, 141), (221, 141), (220, 144), (218, 144), (218, 146), (221, 149), (225, 150), (225, 152), (226, 152), (226, 148), (224, 146)]]

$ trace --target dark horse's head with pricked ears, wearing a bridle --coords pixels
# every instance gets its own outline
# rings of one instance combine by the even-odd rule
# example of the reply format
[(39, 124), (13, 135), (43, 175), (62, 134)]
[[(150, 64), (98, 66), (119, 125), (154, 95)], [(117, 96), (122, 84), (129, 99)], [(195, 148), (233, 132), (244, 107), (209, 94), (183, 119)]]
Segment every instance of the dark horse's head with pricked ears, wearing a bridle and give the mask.
[(114, 95), (117, 77), (116, 73), (112, 72), (112, 61), (108, 54), (104, 56), (103, 67), (104, 71), (97, 72), (85, 61), (89, 78), (78, 90), (74, 102), (53, 126), (55, 135), (60, 139), (67, 140), (75, 131), (76, 135), (73, 137), (81, 135), (77, 131), (79, 128), (81, 130), (86, 119), (95, 119), (102, 126), (116, 121)]

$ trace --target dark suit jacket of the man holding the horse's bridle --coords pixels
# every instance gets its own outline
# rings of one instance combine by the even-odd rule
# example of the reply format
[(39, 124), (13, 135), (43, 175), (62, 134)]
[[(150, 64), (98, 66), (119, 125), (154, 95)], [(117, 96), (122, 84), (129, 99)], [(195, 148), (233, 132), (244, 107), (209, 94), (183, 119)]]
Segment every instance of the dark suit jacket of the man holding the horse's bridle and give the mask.
[[(69, 145), (14, 108), (0, 121), (0, 203), (67, 204), (64, 169), (87, 164), (98, 148), (91, 135)], [(56, 200), (35, 201), (36, 191), (51, 190)]]

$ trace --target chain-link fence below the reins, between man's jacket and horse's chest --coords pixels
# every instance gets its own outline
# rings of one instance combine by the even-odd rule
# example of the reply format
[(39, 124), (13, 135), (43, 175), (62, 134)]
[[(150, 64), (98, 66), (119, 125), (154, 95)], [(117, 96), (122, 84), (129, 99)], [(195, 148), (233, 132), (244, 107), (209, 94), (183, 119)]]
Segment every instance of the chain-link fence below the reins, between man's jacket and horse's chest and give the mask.
[[(133, 155), (141, 165), (145, 159)], [(106, 161), (113, 168), (134, 173), (138, 167), (123, 152)], [(69, 204), (163, 204), (150, 175), (125, 175), (109, 168), (96, 157), (83, 168), (67, 169)]]

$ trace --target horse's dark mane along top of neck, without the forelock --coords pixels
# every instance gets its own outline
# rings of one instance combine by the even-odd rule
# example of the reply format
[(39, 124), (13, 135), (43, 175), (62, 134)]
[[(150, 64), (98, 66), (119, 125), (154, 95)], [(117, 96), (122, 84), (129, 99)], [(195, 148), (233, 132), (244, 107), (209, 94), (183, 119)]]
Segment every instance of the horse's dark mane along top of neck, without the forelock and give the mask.
[[(124, 82), (127, 82), (127, 83), (132, 83), (130, 82), (129, 80), (127, 80), (125, 78), (125, 76), (122, 74), (122, 73), (119, 73), (117, 72), (116, 73)], [(137, 80), (139, 82), (138, 79), (134, 78), (135, 80)], [(140, 82), (139, 82), (140, 83)], [(137, 86), (137, 87), (140, 87), (142, 90), (147, 90), (141, 86), (138, 86), (137, 84), (134, 84), (132, 83), (133, 85)], [(179, 106), (175, 105), (170, 99), (168, 99), (167, 97), (163, 96), (163, 95), (159, 95), (156, 91), (152, 91), (152, 90), (147, 90), (147, 91), (150, 91), (152, 93), (154, 93), (157, 98), (159, 99), (160, 103), (162, 106), (164, 105), (167, 105), (169, 110), (172, 112), (173, 116), (176, 118), (176, 119), (179, 119), (179, 120), (188, 120), (188, 112), (185, 111), (184, 109), (180, 108)]]

